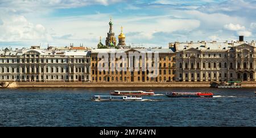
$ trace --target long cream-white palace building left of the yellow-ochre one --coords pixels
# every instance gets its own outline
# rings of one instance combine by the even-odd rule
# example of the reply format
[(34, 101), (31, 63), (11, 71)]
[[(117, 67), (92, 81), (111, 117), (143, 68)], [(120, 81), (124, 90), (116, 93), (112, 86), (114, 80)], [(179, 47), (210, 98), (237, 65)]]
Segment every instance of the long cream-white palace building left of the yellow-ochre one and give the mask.
[(1, 81), (89, 81), (90, 52), (31, 49), (0, 51)]

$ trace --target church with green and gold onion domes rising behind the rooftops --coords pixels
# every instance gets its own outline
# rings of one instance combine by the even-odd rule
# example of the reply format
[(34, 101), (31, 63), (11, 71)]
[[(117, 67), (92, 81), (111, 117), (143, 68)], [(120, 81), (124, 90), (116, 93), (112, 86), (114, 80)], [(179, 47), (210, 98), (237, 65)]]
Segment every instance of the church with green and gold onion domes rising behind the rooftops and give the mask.
[(126, 44), (125, 44), (125, 34), (123, 33), (123, 27), (121, 27), (121, 33), (118, 36), (118, 44), (117, 44), (117, 40), (115, 38), (115, 33), (113, 32), (112, 19), (110, 19), (110, 21), (109, 21), (109, 32), (107, 35), (108, 36), (106, 37), (105, 45), (102, 44), (101, 37), (100, 37), (100, 42), (97, 45), (98, 49), (130, 48), (130, 46), (126, 46)]

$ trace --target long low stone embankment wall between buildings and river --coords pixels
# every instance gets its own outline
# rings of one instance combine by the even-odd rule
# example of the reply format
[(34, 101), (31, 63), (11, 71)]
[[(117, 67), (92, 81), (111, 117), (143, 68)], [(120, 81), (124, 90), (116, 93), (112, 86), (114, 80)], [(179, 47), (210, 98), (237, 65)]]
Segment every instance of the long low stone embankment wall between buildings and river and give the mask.
[[(210, 82), (168, 83), (84, 83), (84, 82), (15, 82), (6, 88), (209, 88)], [(256, 88), (256, 82), (243, 82), (242, 88)]]

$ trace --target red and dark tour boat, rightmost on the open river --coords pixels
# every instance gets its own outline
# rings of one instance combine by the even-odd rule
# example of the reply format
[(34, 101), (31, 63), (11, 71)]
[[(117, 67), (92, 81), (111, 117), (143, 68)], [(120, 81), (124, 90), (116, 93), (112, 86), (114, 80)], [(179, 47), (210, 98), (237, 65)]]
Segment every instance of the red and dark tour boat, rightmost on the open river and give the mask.
[(168, 97), (213, 97), (213, 93), (211, 92), (171, 92), (166, 94)]

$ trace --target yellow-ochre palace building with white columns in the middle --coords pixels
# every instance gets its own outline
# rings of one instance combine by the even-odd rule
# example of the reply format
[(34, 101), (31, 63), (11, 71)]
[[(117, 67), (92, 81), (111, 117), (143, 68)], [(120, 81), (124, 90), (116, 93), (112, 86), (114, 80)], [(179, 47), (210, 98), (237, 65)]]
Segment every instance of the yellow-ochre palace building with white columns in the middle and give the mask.
[(172, 49), (93, 49), (90, 67), (92, 82), (168, 82), (175, 80), (175, 53)]

